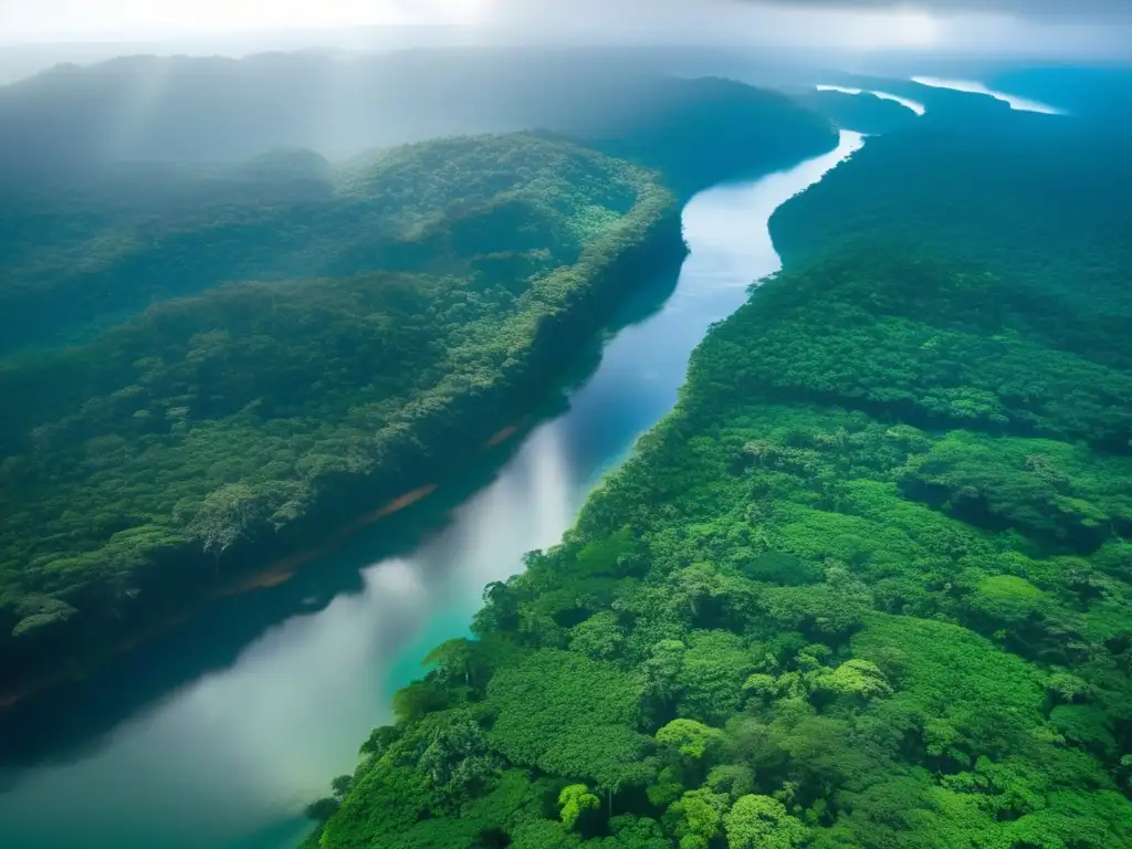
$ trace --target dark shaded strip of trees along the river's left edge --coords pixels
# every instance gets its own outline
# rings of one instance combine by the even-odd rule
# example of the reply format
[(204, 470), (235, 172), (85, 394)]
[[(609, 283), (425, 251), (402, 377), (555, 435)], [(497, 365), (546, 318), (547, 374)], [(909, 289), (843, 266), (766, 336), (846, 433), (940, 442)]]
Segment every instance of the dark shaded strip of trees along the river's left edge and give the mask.
[[(511, 354), (489, 380), (434, 392), (429, 408), (414, 411), (392, 454), (394, 446), (387, 445), (376, 465), (371, 461), (358, 472), (325, 477), (317, 497), (284, 526), (246, 528), (220, 557), (215, 550), (203, 551), (197, 541), (166, 540), (145, 555), (144, 567), (132, 569), (135, 589), (114, 606), (113, 616), (98, 617), (97, 610), (68, 615), (37, 628), (34, 640), (0, 641), (0, 670), (9, 687), (3, 701), (26, 695), (28, 681), (58, 679), (57, 670), (88, 672), (138, 635), (182, 620), (174, 611), (198, 609), (212, 598), (282, 580), (280, 564), (284, 571), (298, 568), (324, 555), (327, 544), (343, 534), (423, 497), (423, 488), (435, 487), (453, 468), (486, 446), (501, 444), (504, 429), (514, 427), (531, 400), (544, 396), (554, 385), (563, 352), (591, 338), (642, 280), (678, 267), (685, 255), (675, 199), (653, 183), (616, 228), (583, 249), (574, 265), (537, 281), (523, 295), (523, 306), (508, 324)], [(328, 532), (331, 543), (325, 542)], [(264, 563), (274, 566), (257, 566)], [(206, 575), (212, 580), (199, 580)]]

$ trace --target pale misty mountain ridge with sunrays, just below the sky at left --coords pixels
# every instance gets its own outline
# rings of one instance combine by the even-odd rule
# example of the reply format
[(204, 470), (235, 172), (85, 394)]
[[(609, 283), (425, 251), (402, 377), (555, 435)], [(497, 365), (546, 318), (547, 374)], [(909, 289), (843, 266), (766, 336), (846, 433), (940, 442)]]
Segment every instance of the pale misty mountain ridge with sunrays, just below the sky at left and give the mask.
[(0, 178), (137, 160), (341, 157), (443, 135), (599, 132), (667, 102), (657, 65), (612, 51), (137, 55), (0, 88)]

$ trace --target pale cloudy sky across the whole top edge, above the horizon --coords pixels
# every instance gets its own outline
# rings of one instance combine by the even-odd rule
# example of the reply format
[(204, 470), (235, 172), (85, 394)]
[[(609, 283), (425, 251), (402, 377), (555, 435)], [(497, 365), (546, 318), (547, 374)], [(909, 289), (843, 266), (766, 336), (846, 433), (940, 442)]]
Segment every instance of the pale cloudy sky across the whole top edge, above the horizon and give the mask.
[[(1056, 5), (1045, 5), (1054, 11)], [(1114, 7), (1116, 8), (1116, 7)], [(191, 45), (243, 52), (314, 46), (720, 45), (918, 50), (1132, 59), (1132, 16), (1018, 15), (1010, 0), (983, 3), (838, 0), (37, 0), (0, 3), (0, 50)]]

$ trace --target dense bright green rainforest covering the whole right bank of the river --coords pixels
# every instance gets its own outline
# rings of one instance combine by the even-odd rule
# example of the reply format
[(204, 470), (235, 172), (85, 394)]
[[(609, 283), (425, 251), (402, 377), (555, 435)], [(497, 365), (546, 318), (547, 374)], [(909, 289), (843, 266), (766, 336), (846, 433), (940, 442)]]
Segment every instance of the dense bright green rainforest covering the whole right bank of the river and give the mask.
[(311, 847), (1132, 844), (1126, 139), (972, 114), (781, 209), (784, 271)]

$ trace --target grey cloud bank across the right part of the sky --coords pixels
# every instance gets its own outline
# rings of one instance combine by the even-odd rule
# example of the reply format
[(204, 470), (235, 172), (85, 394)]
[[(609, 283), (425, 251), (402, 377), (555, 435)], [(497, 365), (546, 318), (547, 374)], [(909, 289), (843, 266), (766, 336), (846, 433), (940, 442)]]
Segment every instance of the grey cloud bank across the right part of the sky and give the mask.
[(531, 37), (1120, 58), (1132, 0), (486, 0)]

